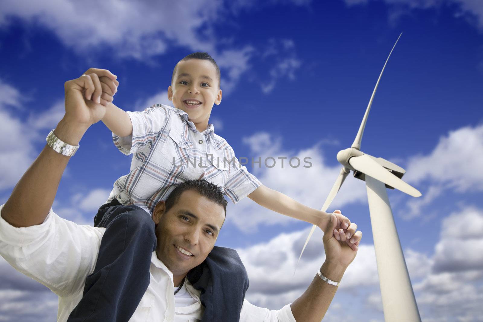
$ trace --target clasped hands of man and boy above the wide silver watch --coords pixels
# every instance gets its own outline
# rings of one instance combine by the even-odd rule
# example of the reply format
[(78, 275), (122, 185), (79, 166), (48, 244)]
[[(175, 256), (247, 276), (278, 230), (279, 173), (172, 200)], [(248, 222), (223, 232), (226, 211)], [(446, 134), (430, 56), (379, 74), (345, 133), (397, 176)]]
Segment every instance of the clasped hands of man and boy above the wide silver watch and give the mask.
[(81, 77), (65, 82), (64, 119), (85, 128), (99, 122), (117, 91), (116, 78), (109, 70), (90, 68)]

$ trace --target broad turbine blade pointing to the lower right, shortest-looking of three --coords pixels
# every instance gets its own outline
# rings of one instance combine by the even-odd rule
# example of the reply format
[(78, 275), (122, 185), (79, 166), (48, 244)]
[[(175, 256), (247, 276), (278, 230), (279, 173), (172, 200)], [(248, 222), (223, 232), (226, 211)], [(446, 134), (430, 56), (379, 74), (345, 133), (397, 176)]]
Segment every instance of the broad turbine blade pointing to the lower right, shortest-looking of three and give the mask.
[(391, 187), (394, 187), (410, 196), (421, 196), (421, 193), (416, 188), (396, 177), (366, 154), (350, 158), (349, 164), (357, 171), (384, 182), (385, 184), (390, 185)]

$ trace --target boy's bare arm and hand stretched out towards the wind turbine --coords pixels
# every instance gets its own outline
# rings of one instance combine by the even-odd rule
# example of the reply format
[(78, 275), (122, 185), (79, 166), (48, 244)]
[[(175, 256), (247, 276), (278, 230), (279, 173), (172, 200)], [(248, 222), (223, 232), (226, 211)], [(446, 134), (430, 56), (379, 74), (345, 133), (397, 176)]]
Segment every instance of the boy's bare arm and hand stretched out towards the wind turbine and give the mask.
[[(281, 213), (285, 216), (317, 225), (322, 230), (326, 229), (328, 220), (330, 219), (330, 214), (327, 212), (307, 207), (289, 196), (270, 189), (265, 185), (256, 188), (256, 190), (249, 194), (248, 197), (262, 207)], [(349, 244), (350, 238), (353, 237), (355, 230), (357, 229), (357, 225), (354, 223), (351, 224), (351, 221), (341, 213), (336, 213), (336, 216), (338, 219), (336, 229), (346, 230), (344, 231), (344, 234), (349, 233), (349, 236), (347, 237), (346, 235), (343, 239), (347, 239)], [(354, 243), (350, 244), (355, 244), (357, 241), (358, 240), (354, 238)]]

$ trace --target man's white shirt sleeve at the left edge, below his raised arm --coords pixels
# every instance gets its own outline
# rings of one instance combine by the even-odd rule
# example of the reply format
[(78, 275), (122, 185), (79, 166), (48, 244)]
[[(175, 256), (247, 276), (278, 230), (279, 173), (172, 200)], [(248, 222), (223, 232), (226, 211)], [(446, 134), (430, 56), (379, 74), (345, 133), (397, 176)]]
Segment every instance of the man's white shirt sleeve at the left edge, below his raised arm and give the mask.
[(30, 227), (14, 227), (0, 216), (0, 255), (55, 294), (68, 296), (82, 290), (94, 271), (104, 231), (62, 219), (52, 209), (42, 224)]

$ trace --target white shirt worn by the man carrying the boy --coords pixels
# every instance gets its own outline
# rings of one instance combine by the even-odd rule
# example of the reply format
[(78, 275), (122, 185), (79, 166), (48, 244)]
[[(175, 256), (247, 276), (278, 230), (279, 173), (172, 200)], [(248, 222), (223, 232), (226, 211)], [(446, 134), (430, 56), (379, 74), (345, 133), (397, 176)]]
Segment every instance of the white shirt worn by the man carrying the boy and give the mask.
[[(3, 205), (0, 206), (0, 211)], [(51, 209), (43, 224), (14, 227), (0, 216), (0, 255), (16, 270), (58, 295), (57, 321), (67, 321), (82, 298), (85, 278), (94, 271), (105, 228), (79, 225)], [(188, 282), (180, 300), (174, 296), (173, 275), (153, 252), (151, 280), (129, 321), (195, 322), (203, 306)], [(258, 308), (244, 300), (240, 322), (295, 322), (290, 304), (280, 310)]]

